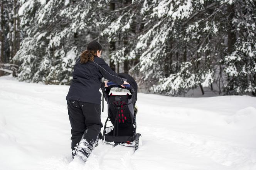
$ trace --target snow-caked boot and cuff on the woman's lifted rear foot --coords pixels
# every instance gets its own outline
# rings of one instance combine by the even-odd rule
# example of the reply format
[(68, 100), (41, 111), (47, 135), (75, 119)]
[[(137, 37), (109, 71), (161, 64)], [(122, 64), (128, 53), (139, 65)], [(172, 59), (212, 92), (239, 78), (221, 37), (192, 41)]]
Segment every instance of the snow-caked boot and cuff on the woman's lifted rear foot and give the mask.
[(88, 141), (86, 139), (82, 139), (78, 144), (76, 154), (82, 157), (84, 161), (87, 161), (92, 150), (93, 147), (89, 145)]

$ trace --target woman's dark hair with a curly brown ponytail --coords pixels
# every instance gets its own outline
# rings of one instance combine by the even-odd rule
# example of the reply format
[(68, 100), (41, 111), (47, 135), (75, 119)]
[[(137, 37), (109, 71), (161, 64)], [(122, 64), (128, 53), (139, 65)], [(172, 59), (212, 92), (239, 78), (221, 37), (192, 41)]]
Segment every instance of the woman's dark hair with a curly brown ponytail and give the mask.
[(87, 45), (87, 50), (80, 54), (80, 63), (84, 64), (88, 61), (94, 61), (94, 56), (97, 55), (97, 51), (101, 51), (102, 47), (97, 41), (92, 41)]

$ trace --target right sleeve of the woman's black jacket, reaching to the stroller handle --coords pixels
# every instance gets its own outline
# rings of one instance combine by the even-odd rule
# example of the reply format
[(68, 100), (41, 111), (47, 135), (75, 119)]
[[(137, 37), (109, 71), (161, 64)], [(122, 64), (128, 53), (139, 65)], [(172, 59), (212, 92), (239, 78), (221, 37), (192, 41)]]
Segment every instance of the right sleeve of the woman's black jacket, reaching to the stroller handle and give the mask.
[[(95, 61), (93, 62), (96, 63)], [(108, 66), (104, 59), (99, 58), (96, 64), (98, 65), (99, 71), (105, 79), (108, 79), (108, 81), (112, 81), (118, 85), (122, 85), (124, 83), (123, 79), (120, 78), (118, 74), (116, 74), (116, 72)]]

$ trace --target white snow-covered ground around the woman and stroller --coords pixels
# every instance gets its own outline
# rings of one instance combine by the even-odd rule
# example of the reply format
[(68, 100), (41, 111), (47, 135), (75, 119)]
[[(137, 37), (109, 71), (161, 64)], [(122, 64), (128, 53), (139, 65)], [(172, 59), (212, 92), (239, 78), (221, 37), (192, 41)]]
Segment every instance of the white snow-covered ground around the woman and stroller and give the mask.
[(142, 147), (100, 143), (84, 163), (71, 157), (68, 89), (0, 78), (1, 170), (256, 170), (255, 97), (138, 93)]

